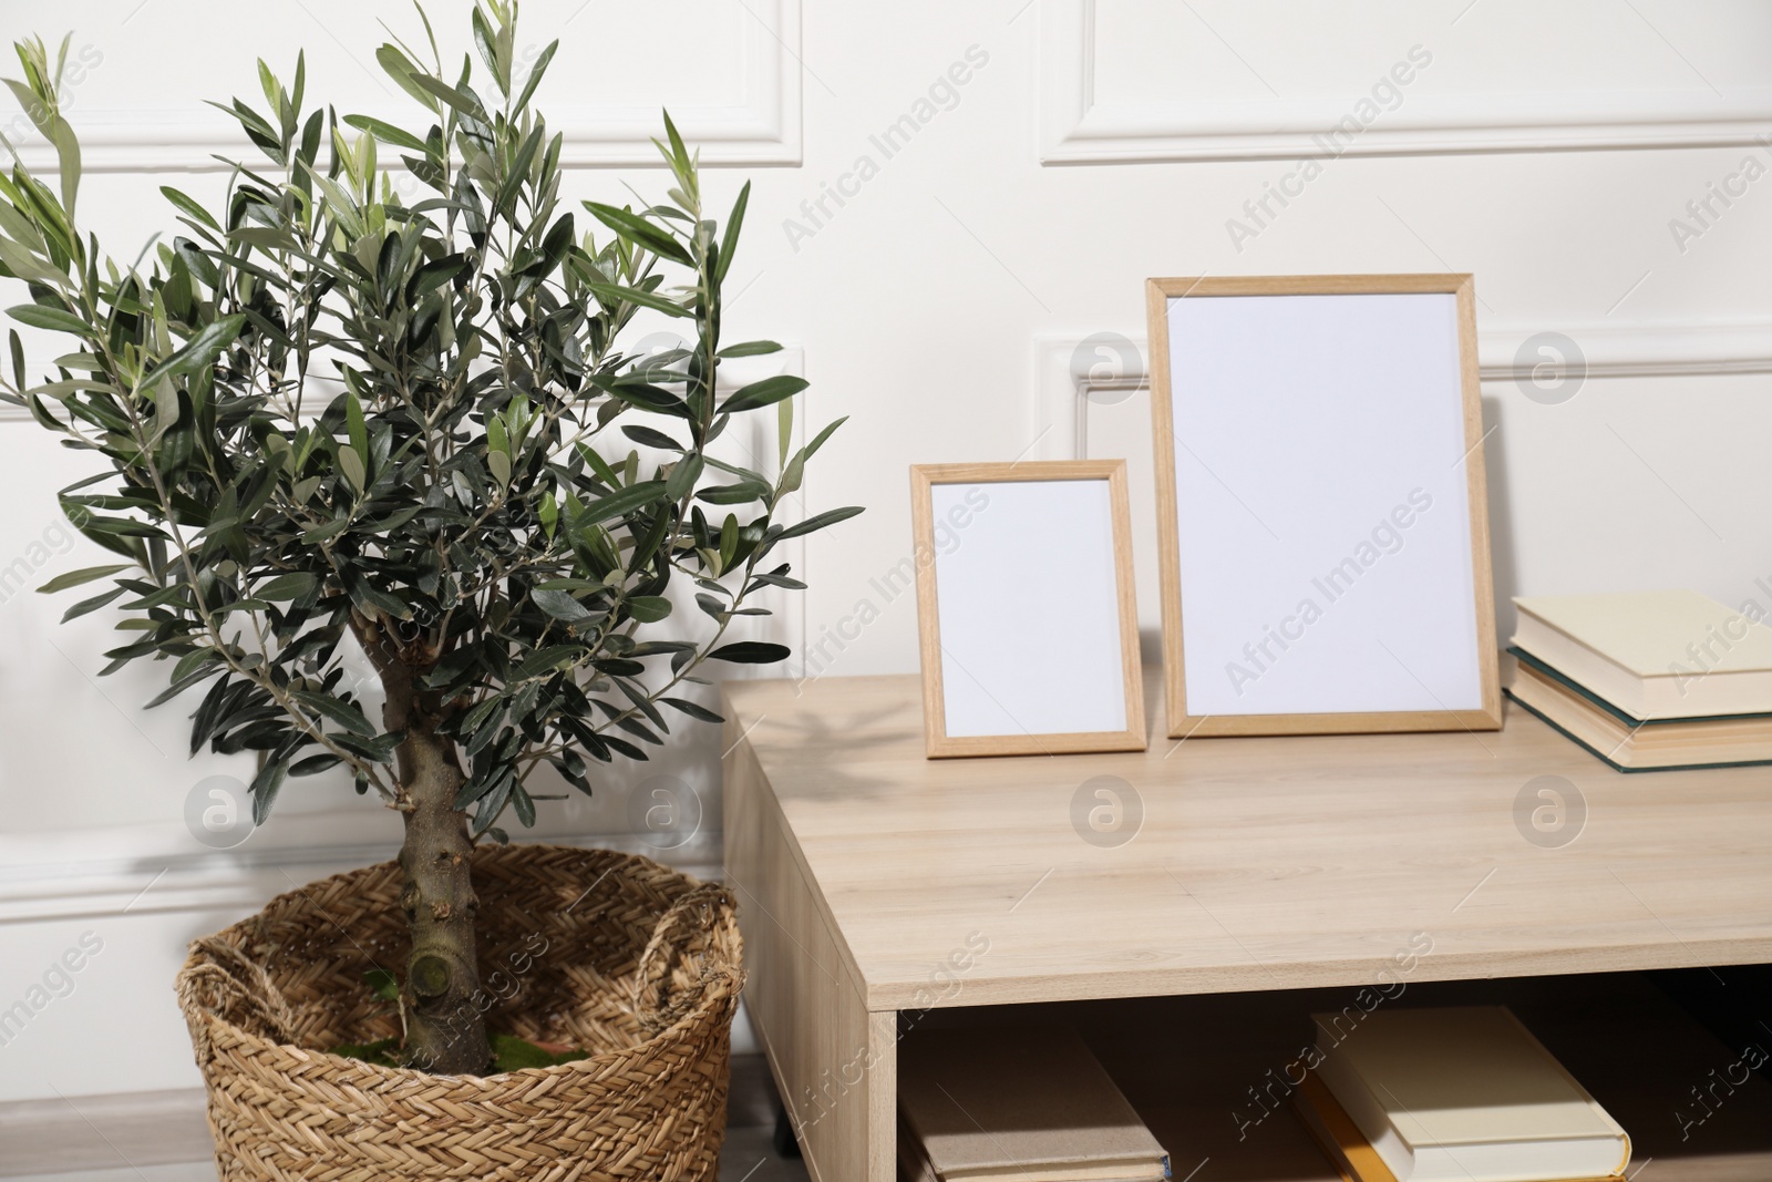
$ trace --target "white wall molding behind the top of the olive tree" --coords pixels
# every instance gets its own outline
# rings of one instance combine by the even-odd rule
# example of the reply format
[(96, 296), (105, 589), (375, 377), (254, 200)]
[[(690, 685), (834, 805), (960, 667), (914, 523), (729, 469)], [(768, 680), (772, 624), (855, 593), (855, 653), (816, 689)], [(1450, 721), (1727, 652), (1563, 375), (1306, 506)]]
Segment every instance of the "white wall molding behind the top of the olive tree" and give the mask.
[[(801, 0), (751, 0), (744, 35), (730, 51), (742, 87), (730, 101), (673, 106), (684, 138), (702, 149), (702, 163), (760, 167), (801, 163)], [(654, 136), (663, 135), (656, 106), (544, 103), (551, 126), (565, 136), (560, 163), (569, 168), (663, 167)], [(385, 112), (370, 112), (385, 117)], [(406, 112), (400, 112), (402, 115)], [(190, 103), (177, 108), (76, 106), (69, 122), (80, 135), (85, 172), (230, 172), (218, 156), (252, 159), (252, 144), (225, 115)], [(34, 129), (19, 145), (34, 172), (53, 172), (55, 151)], [(395, 154), (388, 152), (395, 161)]]

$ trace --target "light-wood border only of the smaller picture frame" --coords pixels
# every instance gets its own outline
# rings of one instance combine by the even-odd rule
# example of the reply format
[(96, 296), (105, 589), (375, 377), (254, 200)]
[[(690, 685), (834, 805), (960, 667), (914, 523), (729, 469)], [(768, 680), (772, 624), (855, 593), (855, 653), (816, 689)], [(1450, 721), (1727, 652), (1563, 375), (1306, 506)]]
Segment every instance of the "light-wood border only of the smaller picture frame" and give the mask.
[[(936, 526), (930, 494), (937, 484), (1045, 480), (1108, 482), (1108, 507), (1113, 517), (1115, 587), (1120, 603), (1120, 673), (1125, 689), (1125, 730), (1044, 735), (948, 735), (946, 704), (941, 693), (941, 620), (936, 611)], [(1127, 494), (1123, 459), (914, 464), (911, 468), (911, 530), (916, 540), (916, 624), (923, 661), (923, 743), (929, 758), (1145, 750), (1145, 679), (1138, 652), (1138, 601), (1132, 585), (1132, 507)]]

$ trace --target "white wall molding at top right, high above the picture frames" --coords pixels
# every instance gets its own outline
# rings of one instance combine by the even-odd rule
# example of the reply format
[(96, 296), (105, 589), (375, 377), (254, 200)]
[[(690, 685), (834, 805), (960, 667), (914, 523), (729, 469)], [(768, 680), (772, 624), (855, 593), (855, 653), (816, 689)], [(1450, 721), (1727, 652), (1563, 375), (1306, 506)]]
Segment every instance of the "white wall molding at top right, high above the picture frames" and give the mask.
[[(1095, 97), (1097, 2), (1040, 0), (1040, 163), (1324, 156), (1313, 136), (1359, 96), (1113, 105)], [(1772, 90), (1412, 94), (1336, 156), (1767, 144)]]

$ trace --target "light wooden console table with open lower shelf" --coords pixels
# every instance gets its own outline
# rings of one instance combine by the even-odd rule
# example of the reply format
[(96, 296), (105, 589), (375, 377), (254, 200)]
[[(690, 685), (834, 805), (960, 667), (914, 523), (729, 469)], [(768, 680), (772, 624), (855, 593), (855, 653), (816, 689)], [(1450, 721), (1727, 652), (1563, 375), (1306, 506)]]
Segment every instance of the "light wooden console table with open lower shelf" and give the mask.
[[(900, 1010), (1375, 984), (1423, 934), (1412, 982), (1772, 960), (1765, 767), (1620, 774), (1519, 709), (1177, 743), (1148, 695), (1145, 753), (932, 762), (916, 677), (727, 684), (746, 996), (819, 1182), (897, 1177)], [(1131, 840), (1074, 819), (1097, 776)], [(1517, 822), (1540, 776), (1574, 842)]]

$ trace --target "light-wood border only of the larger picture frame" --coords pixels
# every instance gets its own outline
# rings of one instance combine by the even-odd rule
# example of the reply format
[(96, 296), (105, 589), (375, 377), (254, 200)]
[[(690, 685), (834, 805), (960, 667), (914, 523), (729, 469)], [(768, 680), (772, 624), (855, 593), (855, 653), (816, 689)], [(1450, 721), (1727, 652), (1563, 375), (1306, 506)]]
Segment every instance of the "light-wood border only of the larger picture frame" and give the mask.
[[(1465, 493), (1471, 510), (1471, 571), (1476, 581), (1478, 672), (1483, 705), (1474, 711), (1368, 711), (1347, 714), (1187, 712), (1182, 665), (1182, 564), (1175, 503), (1175, 415), (1170, 390), (1170, 299), (1187, 296), (1457, 296), (1458, 374), (1464, 400)], [(1157, 454), (1157, 549), (1162, 576), (1162, 661), (1170, 737), (1361, 734), (1395, 730), (1499, 730), (1501, 673), (1496, 650), (1496, 583), (1488, 553), (1488, 482), (1483, 475), (1483, 399), (1476, 367), (1476, 287), (1469, 275), (1279, 275), (1152, 278), (1145, 284), (1150, 326), (1150, 413)]]

